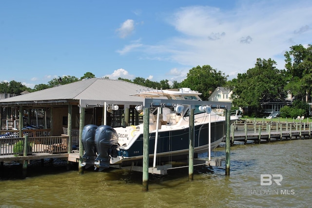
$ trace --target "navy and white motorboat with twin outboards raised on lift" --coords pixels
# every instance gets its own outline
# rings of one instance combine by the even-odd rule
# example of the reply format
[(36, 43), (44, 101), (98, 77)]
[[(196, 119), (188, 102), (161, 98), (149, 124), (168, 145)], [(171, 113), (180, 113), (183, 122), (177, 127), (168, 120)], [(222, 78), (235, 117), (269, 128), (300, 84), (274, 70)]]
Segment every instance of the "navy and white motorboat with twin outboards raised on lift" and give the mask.
[[(151, 99), (202, 101), (200, 95), (201, 93), (190, 88), (147, 89), (133, 94)], [(190, 105), (150, 108), (149, 158), (154, 164), (188, 157), (189, 108)], [(142, 113), (142, 106), (137, 106), (136, 109)], [(196, 105), (194, 119), (194, 153), (208, 153), (209, 146), (214, 149), (225, 136), (225, 117), (214, 111), (208, 114), (205, 107)], [(231, 122), (237, 119), (231, 116)], [(143, 123), (115, 128), (108, 125), (86, 125), (82, 130), (82, 144), (85, 150), (82, 165), (85, 168), (94, 166), (101, 171), (116, 165), (140, 165), (143, 158)]]

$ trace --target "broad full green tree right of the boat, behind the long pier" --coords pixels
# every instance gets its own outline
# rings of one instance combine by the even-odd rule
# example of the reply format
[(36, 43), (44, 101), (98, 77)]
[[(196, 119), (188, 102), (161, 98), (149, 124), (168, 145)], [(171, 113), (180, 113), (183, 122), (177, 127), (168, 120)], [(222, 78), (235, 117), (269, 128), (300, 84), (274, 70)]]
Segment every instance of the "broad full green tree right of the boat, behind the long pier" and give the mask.
[(274, 60), (258, 58), (254, 68), (238, 74), (237, 79), (229, 82), (233, 104), (251, 107), (257, 114), (261, 109), (261, 102), (285, 101), (285, 76), (283, 71), (276, 69), (274, 65)]

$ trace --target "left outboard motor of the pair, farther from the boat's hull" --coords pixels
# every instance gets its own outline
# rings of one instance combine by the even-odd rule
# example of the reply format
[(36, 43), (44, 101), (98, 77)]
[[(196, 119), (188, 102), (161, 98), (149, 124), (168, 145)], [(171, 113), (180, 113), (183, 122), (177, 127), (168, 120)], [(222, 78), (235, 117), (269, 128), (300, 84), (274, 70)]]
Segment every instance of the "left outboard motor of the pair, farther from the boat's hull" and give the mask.
[(82, 165), (85, 166), (85, 168), (89, 168), (91, 166), (94, 166), (94, 161), (97, 158), (97, 149), (96, 144), (94, 142), (94, 137), (96, 134), (98, 126), (89, 124), (85, 125), (82, 129), (82, 146), (84, 149), (84, 155), (82, 156), (83, 162)]

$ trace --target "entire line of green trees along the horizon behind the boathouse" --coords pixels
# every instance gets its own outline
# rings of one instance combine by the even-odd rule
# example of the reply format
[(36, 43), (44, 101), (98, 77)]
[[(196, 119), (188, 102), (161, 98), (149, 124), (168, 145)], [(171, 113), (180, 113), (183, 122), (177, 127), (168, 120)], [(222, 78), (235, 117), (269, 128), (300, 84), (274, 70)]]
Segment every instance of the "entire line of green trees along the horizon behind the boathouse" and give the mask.
[[(306, 47), (303, 45), (292, 46), (290, 51), (285, 52), (284, 56), (285, 69), (277, 69), (275, 67), (276, 62), (271, 58), (268, 60), (258, 58), (254, 68), (248, 69), (246, 73), (239, 73), (237, 78), (230, 81), (227, 80), (228, 75), (213, 69), (209, 65), (190, 69), (186, 79), (180, 83), (173, 81), (171, 85), (168, 80), (154, 82), (141, 77), (133, 80), (118, 79), (158, 89), (189, 87), (201, 92), (203, 100), (208, 100), (216, 87), (228, 87), (233, 91), (231, 99), (235, 107), (248, 106), (257, 114), (261, 111), (261, 103), (263, 102), (284, 101), (286, 104), (289, 93), (292, 94), (295, 101), (311, 102), (312, 46), (310, 44)], [(64, 76), (61, 78), (62, 82), (59, 82), (58, 78), (54, 78), (48, 84), (36, 85), (34, 89), (27, 88), (15, 81), (2, 82), (0, 83), (0, 93), (19, 94), (24, 90), (32, 92), (93, 77), (95, 77), (93, 73), (86, 72), (80, 78)], [(302, 104), (298, 105), (301, 106)]]

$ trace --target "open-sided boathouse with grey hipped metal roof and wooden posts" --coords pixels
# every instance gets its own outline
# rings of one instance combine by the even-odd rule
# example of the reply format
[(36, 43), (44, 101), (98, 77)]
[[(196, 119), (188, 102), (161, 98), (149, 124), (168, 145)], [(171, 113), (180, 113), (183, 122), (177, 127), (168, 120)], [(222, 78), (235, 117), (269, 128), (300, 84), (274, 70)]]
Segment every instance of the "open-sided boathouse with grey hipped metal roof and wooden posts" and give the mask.
[[(32, 153), (71, 153), (79, 145), (83, 125), (138, 124), (141, 117), (135, 106), (142, 105), (144, 99), (131, 94), (142, 88), (122, 80), (91, 78), (1, 99), (1, 140), (28, 135), (35, 139), (30, 141)], [(29, 129), (32, 125), (39, 129)], [(48, 140), (38, 147), (43, 137)], [(12, 142), (17, 141), (0, 142), (0, 156), (17, 154), (4, 145)]]

